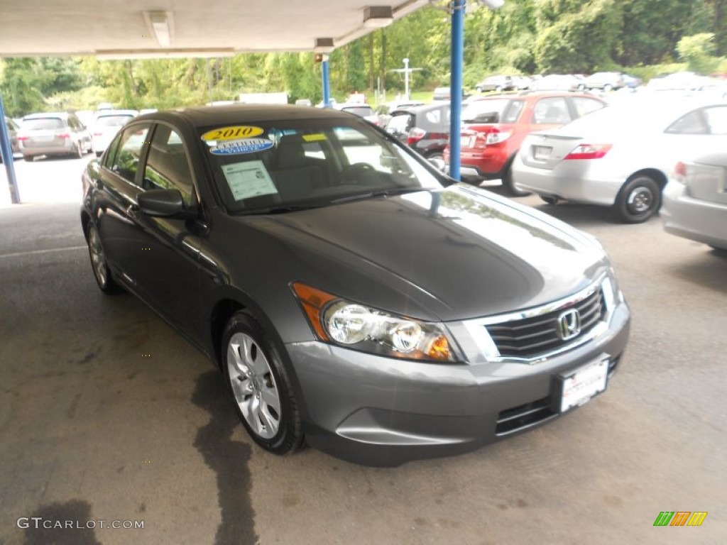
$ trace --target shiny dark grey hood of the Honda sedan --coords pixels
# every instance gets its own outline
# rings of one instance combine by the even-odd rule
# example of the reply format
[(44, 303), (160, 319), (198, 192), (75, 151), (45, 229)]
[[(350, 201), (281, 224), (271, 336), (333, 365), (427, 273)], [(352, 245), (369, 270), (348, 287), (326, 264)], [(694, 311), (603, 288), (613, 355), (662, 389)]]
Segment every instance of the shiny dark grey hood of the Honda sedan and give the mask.
[(238, 221), (276, 239), (288, 281), (421, 319), (553, 302), (608, 267), (590, 235), (490, 195), (454, 185)]

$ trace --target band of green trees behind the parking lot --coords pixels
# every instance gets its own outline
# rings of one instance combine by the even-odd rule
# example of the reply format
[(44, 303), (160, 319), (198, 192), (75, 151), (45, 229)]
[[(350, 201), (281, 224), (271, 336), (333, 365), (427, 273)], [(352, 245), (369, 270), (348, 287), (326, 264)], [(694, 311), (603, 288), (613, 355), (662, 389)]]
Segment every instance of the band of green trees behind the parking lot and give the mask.
[[(332, 95), (354, 90), (388, 97), (404, 90), (430, 98), (449, 85), (451, 17), (425, 7), (330, 55)], [(727, 71), (727, 0), (507, 0), (490, 10), (474, 0), (465, 14), (466, 88), (498, 73), (592, 73), (623, 70), (648, 81), (690, 69)], [(679, 62), (677, 62), (677, 60)], [(626, 67), (626, 68), (622, 68)], [(630, 68), (629, 68), (630, 67)], [(285, 91), (291, 100), (322, 97), (321, 65), (307, 53), (225, 59), (99, 61), (93, 57), (0, 60), (8, 113), (44, 109), (172, 108), (232, 100), (244, 92)]]

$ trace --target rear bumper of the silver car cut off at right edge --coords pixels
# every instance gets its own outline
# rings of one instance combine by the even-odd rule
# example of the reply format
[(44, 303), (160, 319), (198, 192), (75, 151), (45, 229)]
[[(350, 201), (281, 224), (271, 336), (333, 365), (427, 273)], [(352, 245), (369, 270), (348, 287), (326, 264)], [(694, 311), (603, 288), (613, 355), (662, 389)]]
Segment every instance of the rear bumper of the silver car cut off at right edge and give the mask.
[(686, 185), (667, 185), (661, 217), (667, 233), (727, 249), (727, 206), (692, 198)]

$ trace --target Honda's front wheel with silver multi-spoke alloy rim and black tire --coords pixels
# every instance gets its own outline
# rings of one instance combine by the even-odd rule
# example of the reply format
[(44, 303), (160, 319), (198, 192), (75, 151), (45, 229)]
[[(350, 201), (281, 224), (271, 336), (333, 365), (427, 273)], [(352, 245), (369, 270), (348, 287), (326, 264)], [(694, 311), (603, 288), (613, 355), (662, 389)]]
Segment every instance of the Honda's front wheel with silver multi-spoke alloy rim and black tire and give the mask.
[(225, 379), (252, 440), (279, 456), (303, 443), (302, 420), (281, 352), (247, 312), (230, 318), (222, 335)]

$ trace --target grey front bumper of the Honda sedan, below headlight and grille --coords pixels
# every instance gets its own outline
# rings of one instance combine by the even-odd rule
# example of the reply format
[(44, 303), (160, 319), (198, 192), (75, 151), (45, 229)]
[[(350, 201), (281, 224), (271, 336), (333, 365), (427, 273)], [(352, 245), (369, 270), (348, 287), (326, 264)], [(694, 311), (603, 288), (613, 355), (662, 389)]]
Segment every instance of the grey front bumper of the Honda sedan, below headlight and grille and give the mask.
[(610, 376), (629, 327), (630, 310), (620, 302), (597, 339), (530, 364), (417, 363), (321, 342), (287, 349), (308, 443), (358, 464), (391, 467), (473, 451), (555, 418), (555, 376), (604, 357)]

